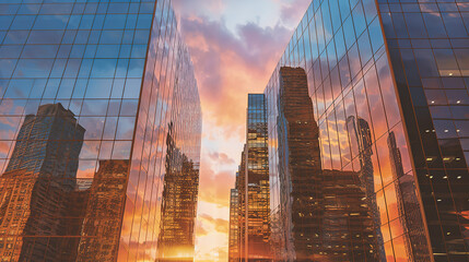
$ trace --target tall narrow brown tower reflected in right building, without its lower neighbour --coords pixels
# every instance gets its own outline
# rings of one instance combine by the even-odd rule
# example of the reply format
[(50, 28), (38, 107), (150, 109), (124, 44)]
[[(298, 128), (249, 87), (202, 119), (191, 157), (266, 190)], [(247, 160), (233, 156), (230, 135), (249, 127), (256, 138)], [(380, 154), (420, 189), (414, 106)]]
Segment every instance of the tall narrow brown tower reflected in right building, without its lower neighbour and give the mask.
[[(278, 99), (280, 223), (288, 261), (315, 259), (324, 218), (318, 129), (303, 69), (281, 68)], [(316, 250), (316, 251), (315, 251)], [(280, 258), (275, 258), (280, 261)]]

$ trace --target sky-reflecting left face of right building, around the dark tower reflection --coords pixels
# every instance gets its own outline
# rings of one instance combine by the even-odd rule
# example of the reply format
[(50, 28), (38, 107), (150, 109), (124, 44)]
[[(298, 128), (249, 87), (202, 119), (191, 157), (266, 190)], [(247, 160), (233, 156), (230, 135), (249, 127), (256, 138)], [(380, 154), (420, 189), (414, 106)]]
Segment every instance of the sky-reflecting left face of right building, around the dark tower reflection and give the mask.
[[(359, 176), (373, 217), (378, 261), (430, 261), (415, 170), (373, 0), (312, 1), (266, 87), (272, 239), (278, 240), (275, 250), (281, 250), (279, 260), (285, 255), (286, 245), (279, 235), (283, 234), (279, 223), (288, 213), (280, 177), (284, 160), (279, 152), (281, 67), (306, 71), (319, 129), (321, 168)], [(363, 261), (354, 257), (353, 246), (344, 248), (341, 259), (327, 250), (321, 254), (338, 261)]]

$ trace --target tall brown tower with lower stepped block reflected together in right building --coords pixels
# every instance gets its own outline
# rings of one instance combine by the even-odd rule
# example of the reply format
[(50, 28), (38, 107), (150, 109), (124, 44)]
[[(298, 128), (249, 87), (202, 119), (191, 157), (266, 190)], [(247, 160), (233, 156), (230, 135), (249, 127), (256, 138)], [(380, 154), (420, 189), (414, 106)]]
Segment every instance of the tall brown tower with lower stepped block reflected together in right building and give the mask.
[(272, 216), (280, 223), (274, 227), (284, 228), (284, 252), (275, 261), (378, 261), (361, 172), (321, 167), (319, 129), (303, 69), (280, 69), (277, 105), (280, 214)]

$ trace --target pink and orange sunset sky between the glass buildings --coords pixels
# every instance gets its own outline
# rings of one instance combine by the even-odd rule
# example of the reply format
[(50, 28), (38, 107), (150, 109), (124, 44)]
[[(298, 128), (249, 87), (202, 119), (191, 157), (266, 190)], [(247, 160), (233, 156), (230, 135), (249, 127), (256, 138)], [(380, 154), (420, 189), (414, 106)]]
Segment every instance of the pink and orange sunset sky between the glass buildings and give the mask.
[(310, 0), (173, 0), (203, 112), (196, 261), (227, 261), (247, 94), (263, 92)]

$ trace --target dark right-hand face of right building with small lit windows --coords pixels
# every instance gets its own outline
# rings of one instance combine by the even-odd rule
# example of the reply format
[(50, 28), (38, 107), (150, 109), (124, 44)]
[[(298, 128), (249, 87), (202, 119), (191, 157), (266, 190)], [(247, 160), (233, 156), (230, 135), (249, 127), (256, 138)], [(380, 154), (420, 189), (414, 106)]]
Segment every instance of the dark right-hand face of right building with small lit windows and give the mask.
[(435, 261), (469, 259), (469, 3), (378, 1)]

